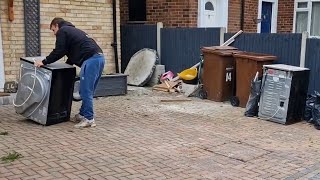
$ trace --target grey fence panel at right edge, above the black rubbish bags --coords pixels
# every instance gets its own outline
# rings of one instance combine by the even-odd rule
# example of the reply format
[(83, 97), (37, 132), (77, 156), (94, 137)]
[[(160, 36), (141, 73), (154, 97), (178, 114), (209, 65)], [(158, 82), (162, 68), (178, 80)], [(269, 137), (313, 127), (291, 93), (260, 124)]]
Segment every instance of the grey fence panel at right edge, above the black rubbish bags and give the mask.
[(310, 69), (309, 93), (320, 92), (320, 39), (308, 39), (306, 67)]

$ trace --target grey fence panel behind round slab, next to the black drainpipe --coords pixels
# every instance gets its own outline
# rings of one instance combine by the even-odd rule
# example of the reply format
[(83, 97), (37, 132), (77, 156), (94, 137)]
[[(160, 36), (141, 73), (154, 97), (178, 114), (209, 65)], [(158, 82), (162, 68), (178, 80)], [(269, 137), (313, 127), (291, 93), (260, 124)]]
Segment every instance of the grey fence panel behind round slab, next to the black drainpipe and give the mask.
[(121, 29), (121, 72), (130, 58), (143, 48), (157, 49), (157, 25), (128, 24)]

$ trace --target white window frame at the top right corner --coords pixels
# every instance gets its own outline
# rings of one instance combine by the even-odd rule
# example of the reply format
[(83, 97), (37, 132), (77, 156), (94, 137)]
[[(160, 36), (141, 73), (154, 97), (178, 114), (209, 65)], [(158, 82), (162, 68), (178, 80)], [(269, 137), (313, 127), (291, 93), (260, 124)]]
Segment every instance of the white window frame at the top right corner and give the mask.
[[(308, 6), (307, 8), (299, 8), (298, 9), (298, 3), (299, 2), (307, 2)], [(307, 31), (310, 34), (311, 33), (311, 17), (312, 17), (312, 3), (313, 2), (320, 2), (320, 0), (295, 0), (294, 1), (294, 17), (293, 17), (293, 28), (292, 28), (292, 32), (295, 33), (296, 32), (296, 16), (297, 16), (297, 12), (308, 12), (308, 22), (307, 22)], [(311, 36), (310, 37), (317, 37), (320, 38), (320, 36)]]

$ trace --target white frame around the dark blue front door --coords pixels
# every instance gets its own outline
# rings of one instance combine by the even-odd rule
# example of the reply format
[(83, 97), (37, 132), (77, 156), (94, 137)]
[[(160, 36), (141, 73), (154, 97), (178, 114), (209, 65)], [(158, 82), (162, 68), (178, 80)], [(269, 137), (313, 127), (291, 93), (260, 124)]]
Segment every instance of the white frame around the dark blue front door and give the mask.
[[(278, 0), (259, 0), (258, 20), (261, 20), (262, 2), (272, 3), (271, 33), (276, 33), (278, 24)], [(261, 33), (261, 22), (257, 24), (257, 33)]]

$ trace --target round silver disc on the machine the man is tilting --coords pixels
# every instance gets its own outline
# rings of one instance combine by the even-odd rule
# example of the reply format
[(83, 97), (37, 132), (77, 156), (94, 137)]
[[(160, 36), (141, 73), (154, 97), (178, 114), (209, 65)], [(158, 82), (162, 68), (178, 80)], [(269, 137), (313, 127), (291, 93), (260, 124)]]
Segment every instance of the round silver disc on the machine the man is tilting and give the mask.
[(15, 99), (15, 109), (18, 114), (30, 116), (37, 108), (41, 107), (48, 91), (48, 81), (39, 71), (22, 75)]

